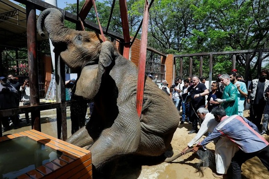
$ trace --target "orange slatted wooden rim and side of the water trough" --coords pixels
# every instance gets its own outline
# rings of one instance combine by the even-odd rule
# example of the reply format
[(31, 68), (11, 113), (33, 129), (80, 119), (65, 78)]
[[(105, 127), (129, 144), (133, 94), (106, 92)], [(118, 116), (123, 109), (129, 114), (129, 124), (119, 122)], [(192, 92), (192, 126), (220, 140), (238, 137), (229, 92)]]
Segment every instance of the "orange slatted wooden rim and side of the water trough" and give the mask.
[[(6, 135), (0, 137), (0, 142), (22, 136), (27, 136), (46, 147), (60, 151), (62, 155), (51, 162), (28, 171), (17, 179), (92, 179), (90, 151), (36, 130)], [(19, 151), (20, 148), (18, 148)]]

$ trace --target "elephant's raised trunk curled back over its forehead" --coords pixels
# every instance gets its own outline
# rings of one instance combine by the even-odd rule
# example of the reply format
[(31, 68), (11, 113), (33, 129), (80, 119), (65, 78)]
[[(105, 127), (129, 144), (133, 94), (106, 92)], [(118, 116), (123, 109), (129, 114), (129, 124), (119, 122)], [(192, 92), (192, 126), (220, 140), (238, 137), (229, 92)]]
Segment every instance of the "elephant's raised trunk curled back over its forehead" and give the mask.
[[(37, 31), (41, 37), (45, 37), (45, 33), (43, 31), (45, 26), (49, 38), (55, 46), (55, 44), (64, 41), (65, 34), (67, 34), (67, 31), (70, 30), (64, 26), (63, 21), (64, 17), (61, 11), (55, 8), (45, 9), (38, 17)], [(55, 28), (57, 30), (55, 30)]]

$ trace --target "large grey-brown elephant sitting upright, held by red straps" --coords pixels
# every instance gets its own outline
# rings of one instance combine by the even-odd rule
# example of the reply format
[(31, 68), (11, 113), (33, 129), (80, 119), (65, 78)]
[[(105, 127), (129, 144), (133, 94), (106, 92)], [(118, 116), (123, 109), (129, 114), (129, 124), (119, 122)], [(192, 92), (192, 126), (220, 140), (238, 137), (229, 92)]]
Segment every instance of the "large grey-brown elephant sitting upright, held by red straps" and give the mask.
[[(161, 156), (171, 152), (171, 140), (179, 126), (179, 112), (171, 98), (145, 76), (140, 118), (136, 111), (138, 69), (107, 38), (90, 31), (69, 29), (62, 13), (45, 9), (37, 21), (44, 28), (68, 67), (80, 71), (75, 95), (94, 101), (87, 125), (67, 142), (92, 153), (94, 172), (102, 173), (108, 162), (125, 155)], [(171, 156), (170, 156), (171, 157)]]

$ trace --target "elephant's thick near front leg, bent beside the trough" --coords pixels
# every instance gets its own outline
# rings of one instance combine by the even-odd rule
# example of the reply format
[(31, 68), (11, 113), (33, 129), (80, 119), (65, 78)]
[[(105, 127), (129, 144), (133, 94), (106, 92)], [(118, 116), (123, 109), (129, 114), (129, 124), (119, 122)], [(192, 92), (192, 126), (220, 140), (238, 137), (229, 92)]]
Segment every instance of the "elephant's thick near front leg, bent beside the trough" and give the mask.
[(123, 112), (124, 116), (119, 115), (112, 127), (103, 130), (90, 147), (92, 164), (96, 170), (99, 171), (111, 159), (132, 154), (137, 150), (141, 128), (137, 113), (134, 112), (134, 114)]

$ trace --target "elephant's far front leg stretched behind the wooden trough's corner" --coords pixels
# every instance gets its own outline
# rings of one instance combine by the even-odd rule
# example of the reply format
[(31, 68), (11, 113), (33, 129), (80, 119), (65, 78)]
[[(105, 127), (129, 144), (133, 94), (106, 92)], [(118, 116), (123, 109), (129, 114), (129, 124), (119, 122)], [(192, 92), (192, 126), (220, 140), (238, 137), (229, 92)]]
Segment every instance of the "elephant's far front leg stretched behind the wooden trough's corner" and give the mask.
[(79, 147), (86, 147), (92, 145), (94, 142), (85, 126), (72, 134), (66, 141)]

